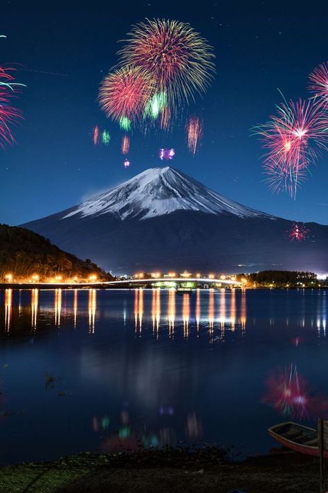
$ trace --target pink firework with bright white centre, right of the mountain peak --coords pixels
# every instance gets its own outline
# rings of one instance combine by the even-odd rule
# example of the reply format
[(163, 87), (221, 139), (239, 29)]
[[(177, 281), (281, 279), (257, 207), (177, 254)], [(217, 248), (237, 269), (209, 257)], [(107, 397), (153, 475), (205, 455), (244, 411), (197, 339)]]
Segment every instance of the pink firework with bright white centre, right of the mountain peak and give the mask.
[(277, 114), (253, 128), (268, 150), (264, 170), (273, 191), (288, 190), (295, 198), (300, 181), (320, 150), (327, 150), (328, 119), (320, 105), (299, 99), (277, 105)]

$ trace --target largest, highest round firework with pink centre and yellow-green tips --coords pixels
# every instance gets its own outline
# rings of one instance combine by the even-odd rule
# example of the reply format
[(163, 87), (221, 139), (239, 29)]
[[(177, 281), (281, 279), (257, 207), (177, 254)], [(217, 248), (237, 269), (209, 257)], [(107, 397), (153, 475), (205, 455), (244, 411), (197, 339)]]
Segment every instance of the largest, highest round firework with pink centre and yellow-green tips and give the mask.
[(203, 94), (215, 73), (212, 47), (190, 24), (165, 19), (146, 19), (133, 26), (118, 52), (121, 64), (140, 67), (165, 92), (176, 110), (183, 102)]

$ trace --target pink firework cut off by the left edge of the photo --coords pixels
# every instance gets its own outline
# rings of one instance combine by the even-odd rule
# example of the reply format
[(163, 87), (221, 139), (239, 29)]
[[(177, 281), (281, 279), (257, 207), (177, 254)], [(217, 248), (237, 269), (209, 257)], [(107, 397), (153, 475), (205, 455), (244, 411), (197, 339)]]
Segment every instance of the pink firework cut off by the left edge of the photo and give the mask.
[(12, 99), (17, 96), (22, 84), (15, 83), (10, 72), (15, 69), (0, 67), (0, 146), (15, 144), (12, 127), (22, 118), (21, 111), (12, 106)]

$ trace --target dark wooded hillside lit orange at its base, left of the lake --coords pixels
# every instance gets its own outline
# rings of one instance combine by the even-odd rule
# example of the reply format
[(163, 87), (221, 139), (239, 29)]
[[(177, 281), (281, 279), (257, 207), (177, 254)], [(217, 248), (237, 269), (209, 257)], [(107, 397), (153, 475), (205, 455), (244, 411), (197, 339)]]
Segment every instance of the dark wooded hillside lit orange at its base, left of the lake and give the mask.
[(88, 278), (95, 274), (107, 279), (102, 269), (91, 261), (82, 261), (63, 252), (39, 234), (23, 227), (0, 224), (0, 279), (11, 273), (15, 280), (39, 275), (44, 280), (56, 275)]

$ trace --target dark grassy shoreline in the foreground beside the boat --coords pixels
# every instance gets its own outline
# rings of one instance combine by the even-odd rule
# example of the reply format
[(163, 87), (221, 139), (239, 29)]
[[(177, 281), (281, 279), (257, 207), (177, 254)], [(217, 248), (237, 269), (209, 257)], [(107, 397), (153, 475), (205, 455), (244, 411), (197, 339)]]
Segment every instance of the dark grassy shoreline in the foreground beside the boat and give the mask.
[(84, 452), (0, 469), (0, 493), (313, 493), (318, 488), (318, 458), (286, 449), (241, 462), (217, 447)]

